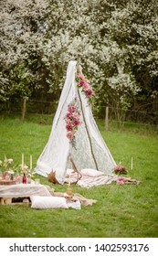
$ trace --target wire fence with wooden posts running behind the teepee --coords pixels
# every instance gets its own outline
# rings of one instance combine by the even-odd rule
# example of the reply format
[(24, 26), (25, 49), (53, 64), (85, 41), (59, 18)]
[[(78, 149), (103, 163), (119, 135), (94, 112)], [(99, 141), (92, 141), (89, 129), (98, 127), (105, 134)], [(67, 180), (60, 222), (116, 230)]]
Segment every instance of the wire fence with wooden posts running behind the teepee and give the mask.
[[(20, 98), (12, 98), (10, 101), (5, 103), (3, 107), (0, 108), (0, 114), (5, 115), (18, 115), (22, 119), (25, 119), (27, 115), (51, 115), (53, 116), (57, 111), (58, 101), (38, 101), (36, 99), (30, 99), (26, 101), (26, 106), (24, 106), (24, 101)], [(94, 118), (105, 121), (106, 129), (111, 122), (117, 123), (122, 126), (124, 123), (142, 123), (144, 125), (153, 125), (157, 129), (158, 124), (158, 112), (138, 111), (138, 110), (128, 110), (114, 108), (112, 106), (101, 106), (100, 112), (96, 112), (95, 109), (92, 110)]]

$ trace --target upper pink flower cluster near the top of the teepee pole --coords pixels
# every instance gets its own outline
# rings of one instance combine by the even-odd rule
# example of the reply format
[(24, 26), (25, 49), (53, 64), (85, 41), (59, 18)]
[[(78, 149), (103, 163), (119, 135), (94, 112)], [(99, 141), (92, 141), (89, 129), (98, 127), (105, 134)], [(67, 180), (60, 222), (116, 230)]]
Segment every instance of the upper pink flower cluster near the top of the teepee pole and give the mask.
[(87, 80), (83, 74), (79, 74), (78, 78), (78, 87), (82, 88), (82, 91), (86, 94), (86, 97), (90, 98), (93, 96), (94, 91), (90, 87), (90, 80)]

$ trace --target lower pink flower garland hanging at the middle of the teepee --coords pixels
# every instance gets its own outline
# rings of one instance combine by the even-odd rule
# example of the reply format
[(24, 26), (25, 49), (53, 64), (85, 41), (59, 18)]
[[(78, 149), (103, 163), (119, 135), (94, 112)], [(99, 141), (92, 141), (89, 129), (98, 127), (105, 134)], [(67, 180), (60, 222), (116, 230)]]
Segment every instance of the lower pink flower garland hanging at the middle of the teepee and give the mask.
[(75, 146), (75, 133), (78, 131), (80, 124), (79, 115), (80, 112), (74, 100), (68, 105), (68, 112), (65, 116), (67, 138), (73, 146)]

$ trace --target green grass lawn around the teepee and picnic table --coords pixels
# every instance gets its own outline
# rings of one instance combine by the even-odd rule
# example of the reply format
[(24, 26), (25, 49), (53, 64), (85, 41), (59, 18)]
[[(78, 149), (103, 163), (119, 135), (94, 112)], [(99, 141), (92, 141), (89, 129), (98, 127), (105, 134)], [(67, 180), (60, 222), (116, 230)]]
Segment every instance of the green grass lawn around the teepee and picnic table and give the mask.
[[(103, 123), (98, 124), (115, 161), (121, 161), (128, 168), (129, 176), (142, 183), (123, 186), (112, 183), (89, 189), (73, 186), (75, 193), (97, 200), (96, 204), (81, 206), (80, 210), (0, 205), (1, 238), (157, 238), (157, 136), (134, 129), (105, 132)], [(37, 122), (29, 118), (22, 123), (18, 119), (1, 118), (0, 159), (6, 155), (19, 164), (24, 153), (26, 164), (29, 165), (29, 155), (33, 155), (36, 166), (50, 130), (51, 124), (45, 119)], [(66, 185), (53, 185), (47, 178), (36, 177), (57, 192), (67, 189)]]

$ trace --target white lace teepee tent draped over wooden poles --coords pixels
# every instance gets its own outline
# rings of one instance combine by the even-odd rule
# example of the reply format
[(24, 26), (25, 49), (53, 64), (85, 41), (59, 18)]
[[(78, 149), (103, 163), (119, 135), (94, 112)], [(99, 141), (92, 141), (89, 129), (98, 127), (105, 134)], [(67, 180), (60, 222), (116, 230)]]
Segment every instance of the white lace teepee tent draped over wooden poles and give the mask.
[[(81, 67), (79, 69), (81, 70)], [(116, 165), (95, 123), (89, 98), (77, 86), (77, 72), (77, 61), (69, 61), (52, 130), (47, 144), (37, 160), (36, 173), (47, 176), (53, 170), (56, 172), (56, 178), (60, 184), (64, 183), (67, 169), (71, 168), (69, 156), (73, 157), (79, 170), (91, 168), (101, 171), (107, 176), (111, 176), (112, 169)], [(75, 101), (75, 105), (79, 109), (79, 127), (75, 132), (75, 146), (70, 143), (66, 129), (68, 106), (72, 101)]]

